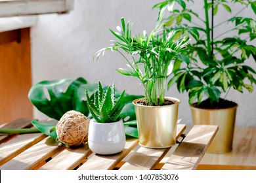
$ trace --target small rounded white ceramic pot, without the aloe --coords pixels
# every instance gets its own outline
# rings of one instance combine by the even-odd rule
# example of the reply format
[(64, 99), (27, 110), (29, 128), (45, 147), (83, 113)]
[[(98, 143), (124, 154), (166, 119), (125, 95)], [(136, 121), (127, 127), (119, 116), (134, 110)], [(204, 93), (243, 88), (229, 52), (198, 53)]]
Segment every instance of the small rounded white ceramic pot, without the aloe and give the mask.
[(88, 144), (96, 154), (116, 154), (125, 147), (125, 129), (123, 121), (114, 123), (98, 123), (90, 121)]

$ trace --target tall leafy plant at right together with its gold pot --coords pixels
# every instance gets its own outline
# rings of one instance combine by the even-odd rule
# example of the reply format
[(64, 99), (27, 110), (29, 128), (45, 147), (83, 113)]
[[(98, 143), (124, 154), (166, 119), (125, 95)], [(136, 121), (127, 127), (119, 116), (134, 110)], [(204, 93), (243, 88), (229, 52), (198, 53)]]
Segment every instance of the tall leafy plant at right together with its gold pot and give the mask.
[[(256, 14), (256, 2), (204, 0), (201, 2), (204, 15), (189, 9), (191, 2), (168, 0), (154, 6), (160, 11), (169, 10), (165, 18), (167, 31), (179, 31), (193, 39), (182, 52), (185, 64), (175, 62), (168, 87), (176, 83), (179, 92), (188, 92), (194, 124), (219, 125), (208, 152), (228, 152), (232, 150), (238, 105), (226, 96), (230, 89), (252, 92), (256, 83), (253, 76), (256, 72), (245, 64), (249, 58), (256, 60), (256, 48), (250, 44), (256, 37), (256, 23), (252, 18), (240, 16), (244, 10)], [(230, 5), (239, 4), (240, 10), (232, 18), (216, 22), (221, 8), (233, 13)], [(228, 25), (224, 27), (225, 24)]]

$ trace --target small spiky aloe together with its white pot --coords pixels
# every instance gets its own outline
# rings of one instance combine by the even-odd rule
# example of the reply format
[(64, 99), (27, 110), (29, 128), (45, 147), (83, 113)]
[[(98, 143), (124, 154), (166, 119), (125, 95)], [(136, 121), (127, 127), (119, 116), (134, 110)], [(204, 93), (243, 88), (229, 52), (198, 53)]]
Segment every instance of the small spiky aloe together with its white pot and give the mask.
[(125, 91), (116, 97), (114, 84), (104, 91), (98, 82), (98, 90), (91, 96), (86, 90), (87, 106), (93, 116), (89, 124), (88, 145), (96, 154), (116, 154), (125, 146), (125, 129), (120, 116), (125, 106), (124, 96)]

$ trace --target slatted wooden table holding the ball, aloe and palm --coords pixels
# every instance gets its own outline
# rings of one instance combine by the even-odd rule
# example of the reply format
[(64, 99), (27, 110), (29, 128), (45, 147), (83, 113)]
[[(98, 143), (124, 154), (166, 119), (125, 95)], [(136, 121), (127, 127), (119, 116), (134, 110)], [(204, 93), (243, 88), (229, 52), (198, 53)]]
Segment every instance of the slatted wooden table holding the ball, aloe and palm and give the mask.
[[(29, 127), (31, 120), (16, 120), (7, 127)], [(3, 128), (7, 128), (3, 126)], [(196, 169), (217, 133), (216, 125), (177, 125), (177, 144), (171, 148), (151, 149), (127, 139), (122, 152), (100, 156), (87, 144), (70, 148), (42, 133), (0, 135), (0, 169)]]

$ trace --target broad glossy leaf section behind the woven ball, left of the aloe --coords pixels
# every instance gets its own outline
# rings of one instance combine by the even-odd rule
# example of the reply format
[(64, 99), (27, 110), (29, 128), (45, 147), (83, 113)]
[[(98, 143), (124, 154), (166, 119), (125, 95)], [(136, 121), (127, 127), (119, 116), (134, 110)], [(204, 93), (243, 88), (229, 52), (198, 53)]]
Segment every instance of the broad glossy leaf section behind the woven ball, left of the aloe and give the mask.
[(32, 86), (28, 98), (39, 111), (55, 120), (60, 120), (69, 110), (77, 110), (88, 116), (85, 88), (90, 93), (96, 90), (97, 85), (83, 78), (42, 81)]

